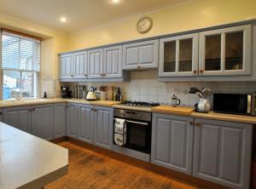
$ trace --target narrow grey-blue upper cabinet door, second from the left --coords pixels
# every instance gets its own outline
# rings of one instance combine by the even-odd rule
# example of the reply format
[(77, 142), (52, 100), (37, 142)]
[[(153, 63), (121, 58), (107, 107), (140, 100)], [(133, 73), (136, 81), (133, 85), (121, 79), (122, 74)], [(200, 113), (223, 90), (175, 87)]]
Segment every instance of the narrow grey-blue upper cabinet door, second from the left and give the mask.
[(87, 51), (73, 54), (73, 77), (87, 78)]

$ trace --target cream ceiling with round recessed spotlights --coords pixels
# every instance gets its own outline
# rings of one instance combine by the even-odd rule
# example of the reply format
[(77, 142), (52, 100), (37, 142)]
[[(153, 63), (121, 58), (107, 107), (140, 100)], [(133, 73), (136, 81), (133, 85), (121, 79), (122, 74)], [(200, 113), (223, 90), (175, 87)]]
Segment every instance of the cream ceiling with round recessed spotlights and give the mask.
[[(0, 14), (56, 31), (77, 32), (186, 0), (0, 0)], [(67, 17), (61, 23), (60, 17)]]

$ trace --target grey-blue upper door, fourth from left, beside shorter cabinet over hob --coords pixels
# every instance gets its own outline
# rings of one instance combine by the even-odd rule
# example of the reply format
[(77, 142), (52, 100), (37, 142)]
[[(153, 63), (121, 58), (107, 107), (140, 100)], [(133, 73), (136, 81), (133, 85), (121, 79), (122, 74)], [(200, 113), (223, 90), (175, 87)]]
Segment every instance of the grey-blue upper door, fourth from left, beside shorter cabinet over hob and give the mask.
[(103, 77), (122, 77), (122, 46), (104, 49)]

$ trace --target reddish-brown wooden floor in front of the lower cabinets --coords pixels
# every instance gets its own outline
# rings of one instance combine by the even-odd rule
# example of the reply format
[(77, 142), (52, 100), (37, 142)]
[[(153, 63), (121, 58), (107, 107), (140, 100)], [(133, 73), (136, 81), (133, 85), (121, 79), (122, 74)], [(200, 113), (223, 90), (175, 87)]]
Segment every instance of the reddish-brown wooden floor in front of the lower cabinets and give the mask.
[(109, 158), (102, 153), (76, 146), (69, 141), (63, 141), (59, 145), (69, 150), (68, 175), (45, 186), (45, 189), (203, 188)]

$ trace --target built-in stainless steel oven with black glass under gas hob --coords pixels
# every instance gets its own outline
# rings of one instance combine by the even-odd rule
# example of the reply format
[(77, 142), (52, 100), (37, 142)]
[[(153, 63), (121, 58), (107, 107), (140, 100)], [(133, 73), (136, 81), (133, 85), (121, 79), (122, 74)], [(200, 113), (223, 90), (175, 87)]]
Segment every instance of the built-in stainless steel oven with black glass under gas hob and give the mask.
[(150, 154), (151, 112), (114, 109), (113, 117), (126, 120), (126, 144), (123, 147)]

